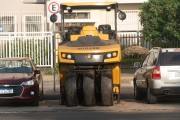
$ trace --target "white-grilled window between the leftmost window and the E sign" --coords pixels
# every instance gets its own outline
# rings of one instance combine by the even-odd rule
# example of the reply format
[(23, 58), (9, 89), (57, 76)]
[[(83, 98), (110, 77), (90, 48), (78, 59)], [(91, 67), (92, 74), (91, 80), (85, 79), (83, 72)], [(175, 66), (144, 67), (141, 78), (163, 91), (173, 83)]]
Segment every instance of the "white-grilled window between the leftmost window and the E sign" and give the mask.
[(25, 32), (42, 32), (44, 31), (43, 15), (25, 15), (24, 16)]

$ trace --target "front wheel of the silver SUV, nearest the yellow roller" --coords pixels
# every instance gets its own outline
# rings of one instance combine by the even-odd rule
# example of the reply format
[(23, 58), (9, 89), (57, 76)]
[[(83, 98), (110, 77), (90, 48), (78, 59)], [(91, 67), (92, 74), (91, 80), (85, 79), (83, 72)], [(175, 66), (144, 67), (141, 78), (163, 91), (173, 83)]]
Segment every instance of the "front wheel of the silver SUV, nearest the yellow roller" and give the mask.
[(134, 99), (135, 100), (142, 100), (143, 99), (143, 93), (140, 90), (140, 88), (137, 87), (135, 82), (134, 82)]

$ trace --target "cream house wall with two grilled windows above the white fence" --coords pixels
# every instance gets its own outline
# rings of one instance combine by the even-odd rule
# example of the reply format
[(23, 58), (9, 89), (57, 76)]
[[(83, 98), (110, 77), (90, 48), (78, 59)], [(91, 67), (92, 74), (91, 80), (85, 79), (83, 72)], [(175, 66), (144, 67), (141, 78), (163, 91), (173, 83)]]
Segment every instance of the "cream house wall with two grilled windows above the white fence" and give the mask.
[[(31, 1), (31, 2), (29, 2)], [(36, 2), (35, 2), (36, 1)], [(0, 2), (1, 32), (46, 31), (43, 0), (5, 0)]]

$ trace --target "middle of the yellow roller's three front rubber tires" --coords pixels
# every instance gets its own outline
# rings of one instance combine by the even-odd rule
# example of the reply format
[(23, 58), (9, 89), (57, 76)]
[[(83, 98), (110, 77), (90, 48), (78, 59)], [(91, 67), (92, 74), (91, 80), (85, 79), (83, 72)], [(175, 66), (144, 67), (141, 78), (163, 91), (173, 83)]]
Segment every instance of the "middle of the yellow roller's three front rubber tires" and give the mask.
[(95, 98), (95, 74), (94, 72), (87, 72), (83, 74), (83, 94), (86, 106), (94, 106), (96, 104)]

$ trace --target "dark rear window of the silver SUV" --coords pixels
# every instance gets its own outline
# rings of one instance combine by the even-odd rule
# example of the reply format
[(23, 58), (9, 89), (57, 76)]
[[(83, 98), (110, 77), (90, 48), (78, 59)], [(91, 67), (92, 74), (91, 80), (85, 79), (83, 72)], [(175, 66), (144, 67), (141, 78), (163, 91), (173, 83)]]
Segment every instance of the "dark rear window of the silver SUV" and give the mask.
[(180, 65), (180, 52), (164, 52), (161, 56), (161, 65)]

